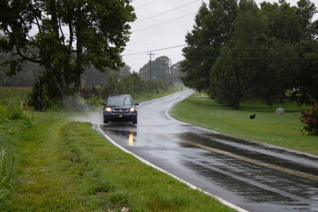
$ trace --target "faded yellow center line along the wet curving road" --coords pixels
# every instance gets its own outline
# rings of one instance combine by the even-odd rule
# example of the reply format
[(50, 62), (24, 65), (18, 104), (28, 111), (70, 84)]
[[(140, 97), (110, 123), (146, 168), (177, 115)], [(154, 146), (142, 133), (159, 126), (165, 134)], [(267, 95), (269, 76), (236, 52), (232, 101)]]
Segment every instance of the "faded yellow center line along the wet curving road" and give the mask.
[(164, 131), (162, 131), (162, 130), (154, 127), (154, 126), (151, 126), (151, 125), (145, 125), (145, 126), (148, 127), (149, 129), (153, 130), (153, 131), (156, 131), (157, 133), (165, 134), (165, 135), (167, 135), (169, 137), (172, 137), (172, 138), (174, 138), (176, 140), (182, 141), (184, 143), (187, 143), (187, 144), (190, 144), (190, 145), (193, 145), (193, 146), (196, 146), (196, 147), (199, 147), (199, 148), (202, 148), (202, 149), (205, 149), (205, 150), (217, 153), (217, 154), (222, 154), (222, 155), (225, 155), (225, 156), (228, 156), (228, 157), (231, 157), (231, 158), (235, 158), (235, 159), (239, 159), (241, 161), (245, 161), (245, 162), (248, 162), (248, 163), (252, 163), (252, 164), (256, 164), (256, 165), (263, 166), (263, 167), (266, 167), (266, 168), (271, 168), (271, 169), (275, 169), (275, 170), (278, 170), (278, 171), (281, 171), (281, 172), (285, 172), (285, 173), (288, 173), (288, 174), (293, 174), (293, 175), (296, 175), (296, 176), (308, 178), (310, 180), (318, 181), (318, 176), (315, 176), (315, 175), (312, 175), (312, 174), (306, 174), (306, 173), (295, 171), (295, 170), (292, 170), (292, 169), (283, 168), (283, 167), (276, 166), (276, 165), (273, 165), (273, 164), (269, 164), (269, 163), (253, 160), (253, 159), (250, 159), (250, 158), (246, 158), (246, 157), (243, 157), (243, 156), (240, 156), (240, 155), (237, 155), (237, 154), (233, 154), (233, 153), (230, 153), (230, 152), (226, 152), (226, 151), (223, 151), (223, 150), (219, 150), (219, 149), (208, 147), (208, 146), (205, 146), (205, 145), (202, 145), (202, 144), (198, 144), (198, 143), (190, 141), (190, 140), (179, 138), (178, 136), (166, 133), (166, 132), (164, 132)]

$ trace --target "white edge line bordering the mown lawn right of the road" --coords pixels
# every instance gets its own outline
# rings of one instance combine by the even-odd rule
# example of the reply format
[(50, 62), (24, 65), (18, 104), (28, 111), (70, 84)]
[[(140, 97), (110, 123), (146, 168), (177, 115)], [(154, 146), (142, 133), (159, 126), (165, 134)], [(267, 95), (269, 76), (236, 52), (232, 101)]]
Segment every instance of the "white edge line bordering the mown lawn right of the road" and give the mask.
[[(191, 94), (191, 95), (192, 95), (192, 94)], [(188, 97), (190, 97), (191, 95), (189, 95)], [(186, 98), (188, 98), (188, 97), (186, 97)], [(186, 98), (184, 98), (184, 99), (186, 99)], [(172, 116), (169, 115), (168, 111), (169, 111), (173, 106), (175, 106), (177, 103), (179, 103), (179, 102), (176, 102), (175, 104), (173, 104), (173, 105), (172, 105), (171, 107), (169, 107), (169, 109), (166, 111), (166, 115), (168, 116), (168, 118), (171, 119), (171, 120), (178, 121), (178, 122), (180, 122), (180, 123), (182, 123), (182, 124), (184, 124), (184, 125), (191, 125), (191, 126), (193, 126), (193, 127), (198, 127), (198, 126), (192, 125), (192, 124), (187, 123), (187, 122), (179, 121), (179, 120), (177, 120), (177, 119), (175, 119), (175, 118), (173, 118)], [(224, 134), (224, 133), (219, 133), (219, 132), (216, 132), (216, 131), (213, 131), (213, 130), (205, 129), (205, 128), (203, 128), (203, 127), (198, 127), (198, 128), (203, 129), (203, 130), (206, 130), (206, 131), (209, 131), (209, 132), (212, 132), (212, 133), (221, 134), (221, 135), (226, 135), (226, 136), (229, 136), (229, 137), (232, 137), (232, 138), (238, 138), (238, 139), (242, 139), (242, 140), (246, 140), (246, 141), (252, 141), (252, 142), (255, 142), (255, 143), (260, 143), (260, 144), (262, 144), (262, 145), (264, 145), (264, 146), (268, 146), (268, 147), (271, 147), (271, 148), (275, 147), (275, 148), (279, 148), (279, 149), (283, 149), (283, 150), (288, 150), (288, 151), (290, 151), (290, 152), (307, 155), (307, 156), (310, 156), (310, 157), (313, 157), (313, 158), (318, 158), (317, 155), (310, 154), (310, 153), (307, 153), (307, 152), (301, 152), (301, 151), (297, 151), (297, 150), (294, 150), (294, 149), (288, 149), (288, 148), (284, 148), (284, 147), (279, 147), (279, 146), (275, 146), (275, 145), (272, 145), (272, 144), (266, 144), (266, 143), (262, 143), (262, 142), (255, 141), (255, 140), (248, 140), (248, 139), (244, 139), (244, 138), (239, 138), (239, 137), (235, 137), (235, 136), (232, 136), (232, 135), (227, 135), (227, 134)]]

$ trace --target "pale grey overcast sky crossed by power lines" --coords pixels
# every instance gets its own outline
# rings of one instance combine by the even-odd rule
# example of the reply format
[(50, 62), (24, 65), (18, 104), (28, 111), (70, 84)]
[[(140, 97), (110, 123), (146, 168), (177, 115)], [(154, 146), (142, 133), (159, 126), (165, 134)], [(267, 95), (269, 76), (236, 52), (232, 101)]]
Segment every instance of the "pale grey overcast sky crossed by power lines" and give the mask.
[[(196, 0), (134, 0), (132, 5), (135, 8), (137, 22), (130, 24), (132, 31), (130, 41), (127, 43), (122, 55), (185, 44), (184, 36), (187, 31), (192, 30), (195, 17), (195, 14), (189, 14), (196, 13), (201, 6), (202, 1), (205, 3), (209, 2), (208, 0), (195, 1)], [(259, 4), (263, 1), (264, 0), (256, 0), (255, 2)], [(269, 2), (278, 2), (278, 0)], [(287, 0), (287, 2), (291, 3), (291, 5), (296, 5), (297, 0)], [(311, 2), (314, 2), (317, 6), (316, 0), (311, 0)], [(181, 7), (186, 4), (189, 5)], [(181, 8), (173, 10), (178, 7)], [(169, 10), (173, 11), (152, 17)], [(148, 17), (152, 18), (140, 21)], [(170, 21), (176, 18), (180, 19)], [(315, 19), (317, 19), (317, 15), (314, 17), (314, 20)], [(160, 24), (166, 21), (170, 22)], [(160, 25), (141, 30), (142, 28), (156, 24)], [(155, 55), (152, 56), (151, 59), (154, 60), (157, 57), (166, 55), (171, 58), (172, 64), (175, 64), (183, 59), (181, 49), (182, 47), (176, 47), (167, 50), (153, 51), (152, 53)], [(147, 53), (123, 56), (124, 62), (129, 65), (132, 70), (137, 72), (144, 64), (148, 63), (149, 59), (150, 56), (147, 55)]]

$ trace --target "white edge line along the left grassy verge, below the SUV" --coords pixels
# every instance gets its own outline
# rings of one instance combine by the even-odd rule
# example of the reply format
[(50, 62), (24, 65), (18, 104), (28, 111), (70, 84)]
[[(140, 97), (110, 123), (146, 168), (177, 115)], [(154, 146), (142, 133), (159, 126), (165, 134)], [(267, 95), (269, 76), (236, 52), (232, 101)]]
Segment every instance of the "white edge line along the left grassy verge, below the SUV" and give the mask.
[(173, 175), (173, 174), (167, 172), (166, 170), (163, 170), (162, 168), (159, 168), (159, 167), (157, 167), (156, 165), (150, 163), (149, 161), (146, 161), (145, 159), (139, 157), (138, 155), (136, 155), (136, 154), (130, 152), (129, 150), (125, 149), (124, 147), (122, 147), (122, 146), (120, 146), (119, 144), (117, 144), (114, 140), (112, 140), (112, 139), (100, 128), (100, 125), (99, 125), (99, 124), (97, 125), (97, 127), (98, 127), (98, 130), (100, 131), (100, 133), (102, 133), (102, 134), (107, 138), (107, 140), (109, 140), (112, 144), (114, 144), (116, 147), (120, 148), (120, 149), (123, 150), (124, 152), (133, 155), (135, 158), (139, 159), (140, 161), (142, 161), (143, 163), (147, 164), (148, 166), (151, 166), (152, 168), (155, 168), (155, 169), (157, 169), (157, 170), (159, 170), (159, 171), (161, 171), (161, 172), (163, 172), (163, 173), (165, 173), (165, 174), (170, 175), (171, 177), (177, 179), (177, 180), (180, 181), (180, 182), (185, 183), (187, 186), (189, 186), (190, 188), (192, 188), (192, 189), (194, 189), (194, 190), (199, 190), (200, 192), (202, 192), (202, 193), (204, 193), (204, 194), (206, 194), (206, 195), (209, 195), (209, 196), (211, 196), (211, 197), (216, 198), (219, 202), (221, 202), (221, 203), (223, 203), (223, 204), (229, 206), (230, 208), (236, 209), (236, 210), (238, 210), (239, 212), (248, 212), (248, 211), (245, 210), (245, 209), (242, 209), (242, 208), (240, 208), (240, 207), (238, 207), (238, 206), (236, 206), (236, 205), (234, 205), (234, 204), (232, 204), (232, 203), (230, 203), (230, 202), (225, 201), (224, 199), (221, 199), (220, 197), (217, 197), (217, 196), (215, 196), (215, 195), (213, 195), (213, 194), (211, 194), (211, 193), (209, 193), (209, 192), (204, 191), (203, 189), (201, 189), (201, 188), (199, 188), (199, 187), (197, 187), (197, 186), (194, 186), (194, 185), (190, 184), (190, 183), (187, 182), (187, 181), (184, 181), (184, 180), (178, 178), (177, 176), (175, 176), (175, 175)]

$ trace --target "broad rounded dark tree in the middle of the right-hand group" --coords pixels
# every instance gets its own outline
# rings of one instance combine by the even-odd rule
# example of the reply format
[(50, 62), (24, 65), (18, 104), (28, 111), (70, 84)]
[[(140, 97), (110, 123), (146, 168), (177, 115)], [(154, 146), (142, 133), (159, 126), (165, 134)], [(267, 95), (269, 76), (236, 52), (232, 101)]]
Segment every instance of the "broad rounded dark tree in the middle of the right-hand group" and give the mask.
[[(279, 10), (280, 7), (284, 11)], [(232, 36), (227, 45), (230, 48), (222, 51), (211, 71), (210, 95), (219, 103), (239, 109), (239, 103), (261, 98), (272, 105), (292, 87), (298, 73), (298, 54), (294, 48), (298, 38), (281, 31), (292, 33), (290, 30), (294, 29), (296, 34), (300, 33), (300, 22), (240, 33), (246, 26), (252, 29), (279, 22), (280, 13), (285, 14), (283, 20), (287, 20), (295, 14), (295, 8), (282, 1), (280, 5), (263, 3), (260, 10), (252, 0), (240, 1), (239, 15), (234, 22), (237, 34)]]

